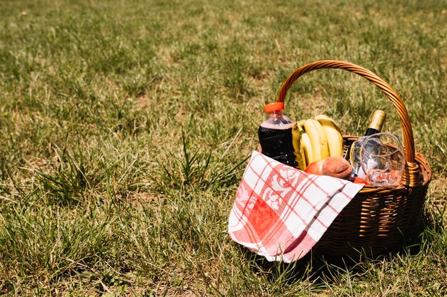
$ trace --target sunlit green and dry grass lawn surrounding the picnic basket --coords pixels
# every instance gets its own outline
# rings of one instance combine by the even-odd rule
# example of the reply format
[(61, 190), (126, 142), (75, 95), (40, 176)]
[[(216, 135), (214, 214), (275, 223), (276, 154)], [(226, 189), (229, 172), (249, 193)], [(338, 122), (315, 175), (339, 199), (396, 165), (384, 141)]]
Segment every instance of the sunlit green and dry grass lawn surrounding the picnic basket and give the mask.
[[(446, 296), (447, 2), (0, 1), (0, 293)], [(433, 171), (420, 236), (356, 263), (270, 264), (228, 214), (263, 104), (351, 61), (401, 95)], [(388, 100), (300, 78), (286, 112), (361, 135)]]

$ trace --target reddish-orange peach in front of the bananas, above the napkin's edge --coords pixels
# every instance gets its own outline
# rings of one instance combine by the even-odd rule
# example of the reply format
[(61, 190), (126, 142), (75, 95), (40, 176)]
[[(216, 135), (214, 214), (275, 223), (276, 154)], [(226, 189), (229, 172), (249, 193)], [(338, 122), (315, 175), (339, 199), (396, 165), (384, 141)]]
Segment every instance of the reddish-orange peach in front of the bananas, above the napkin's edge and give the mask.
[(305, 172), (318, 175), (328, 175), (341, 179), (351, 177), (352, 167), (349, 162), (340, 156), (327, 157), (326, 159), (316, 160), (306, 167)]

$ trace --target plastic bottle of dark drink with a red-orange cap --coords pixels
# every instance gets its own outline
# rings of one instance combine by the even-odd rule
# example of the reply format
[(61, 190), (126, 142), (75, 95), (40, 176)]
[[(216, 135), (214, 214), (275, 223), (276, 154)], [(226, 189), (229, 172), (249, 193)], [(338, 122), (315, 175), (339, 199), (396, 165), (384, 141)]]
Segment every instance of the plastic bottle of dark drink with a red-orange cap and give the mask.
[(264, 106), (266, 120), (258, 128), (262, 153), (272, 159), (297, 167), (292, 144), (294, 122), (283, 114), (284, 103), (270, 103)]

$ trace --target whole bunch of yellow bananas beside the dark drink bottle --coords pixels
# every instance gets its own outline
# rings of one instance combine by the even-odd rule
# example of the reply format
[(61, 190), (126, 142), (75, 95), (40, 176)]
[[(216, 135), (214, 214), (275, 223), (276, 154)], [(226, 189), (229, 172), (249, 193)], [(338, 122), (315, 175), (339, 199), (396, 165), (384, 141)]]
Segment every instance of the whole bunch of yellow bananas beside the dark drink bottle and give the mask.
[(292, 142), (300, 170), (314, 161), (343, 155), (340, 128), (327, 115), (298, 121), (292, 128)]

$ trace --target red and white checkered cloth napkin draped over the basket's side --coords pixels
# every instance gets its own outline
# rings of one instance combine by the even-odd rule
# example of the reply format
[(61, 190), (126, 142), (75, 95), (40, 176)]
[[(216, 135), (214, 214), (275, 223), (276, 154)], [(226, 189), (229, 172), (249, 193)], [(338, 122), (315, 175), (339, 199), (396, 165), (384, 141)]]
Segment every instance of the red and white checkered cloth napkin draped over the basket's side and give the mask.
[(236, 194), (228, 232), (268, 261), (296, 261), (362, 187), (308, 174), (255, 151)]

